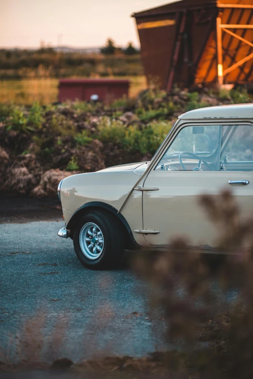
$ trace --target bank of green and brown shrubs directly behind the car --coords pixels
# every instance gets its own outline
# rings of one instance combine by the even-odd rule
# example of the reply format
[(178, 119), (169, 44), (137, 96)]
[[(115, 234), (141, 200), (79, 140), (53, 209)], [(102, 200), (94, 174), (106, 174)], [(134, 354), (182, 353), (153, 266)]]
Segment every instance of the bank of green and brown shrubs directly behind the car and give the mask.
[(151, 88), (110, 106), (0, 104), (0, 191), (54, 196), (72, 172), (150, 160), (185, 111), (247, 102), (252, 99), (244, 90), (168, 94)]

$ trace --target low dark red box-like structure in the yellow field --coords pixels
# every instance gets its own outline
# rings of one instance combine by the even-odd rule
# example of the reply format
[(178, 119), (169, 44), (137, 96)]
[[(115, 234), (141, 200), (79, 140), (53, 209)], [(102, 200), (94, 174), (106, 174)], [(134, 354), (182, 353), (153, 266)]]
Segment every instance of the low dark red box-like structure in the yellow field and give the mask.
[[(59, 101), (92, 100), (92, 96), (105, 103), (128, 96), (126, 79), (61, 79)], [(96, 95), (96, 96), (95, 96)]]

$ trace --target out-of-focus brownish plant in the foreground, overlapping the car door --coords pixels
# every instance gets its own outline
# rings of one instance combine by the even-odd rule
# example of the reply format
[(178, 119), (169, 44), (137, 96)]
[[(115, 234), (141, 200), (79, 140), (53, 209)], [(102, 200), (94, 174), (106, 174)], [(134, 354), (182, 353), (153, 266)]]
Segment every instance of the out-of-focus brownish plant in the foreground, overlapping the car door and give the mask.
[(168, 341), (180, 347), (160, 363), (187, 378), (253, 377), (253, 251), (242, 247), (253, 246), (253, 218), (243, 219), (235, 199), (229, 191), (199, 198), (225, 254), (189, 251), (190, 236), (182, 236), (170, 252), (135, 262)]

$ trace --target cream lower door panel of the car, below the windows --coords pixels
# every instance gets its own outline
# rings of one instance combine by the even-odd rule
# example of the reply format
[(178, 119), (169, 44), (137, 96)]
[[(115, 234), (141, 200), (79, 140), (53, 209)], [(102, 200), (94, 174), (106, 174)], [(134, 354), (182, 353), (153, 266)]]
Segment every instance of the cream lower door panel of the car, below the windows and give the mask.
[[(229, 180), (250, 183), (231, 188)], [(143, 229), (159, 231), (157, 235), (145, 236), (151, 245), (169, 245), (173, 239), (184, 236), (191, 246), (218, 248), (217, 238), (222, 231), (207, 219), (199, 204), (202, 194), (218, 196), (222, 190), (232, 189), (242, 216), (253, 214), (253, 172), (151, 171), (144, 186), (159, 188), (143, 192)]]

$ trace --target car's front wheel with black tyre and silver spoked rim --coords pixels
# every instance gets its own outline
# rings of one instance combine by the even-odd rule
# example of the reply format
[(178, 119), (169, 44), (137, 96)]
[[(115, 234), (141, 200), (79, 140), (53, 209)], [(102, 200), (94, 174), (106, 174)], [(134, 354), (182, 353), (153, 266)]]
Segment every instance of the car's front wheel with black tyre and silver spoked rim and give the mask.
[(94, 269), (115, 265), (125, 250), (119, 222), (110, 213), (98, 210), (82, 216), (74, 230), (73, 243), (79, 261)]

